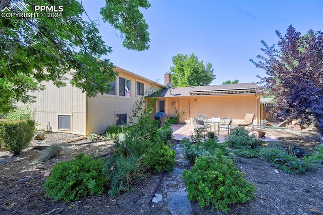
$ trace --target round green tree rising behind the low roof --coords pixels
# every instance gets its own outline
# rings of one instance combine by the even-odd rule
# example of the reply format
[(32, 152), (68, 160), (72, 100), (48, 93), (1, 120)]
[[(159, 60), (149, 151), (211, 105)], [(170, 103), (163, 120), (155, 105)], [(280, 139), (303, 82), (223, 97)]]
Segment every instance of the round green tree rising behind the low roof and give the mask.
[(174, 66), (170, 68), (172, 83), (175, 87), (208, 85), (215, 79), (212, 64), (199, 61), (194, 53), (190, 56), (177, 54), (172, 57)]

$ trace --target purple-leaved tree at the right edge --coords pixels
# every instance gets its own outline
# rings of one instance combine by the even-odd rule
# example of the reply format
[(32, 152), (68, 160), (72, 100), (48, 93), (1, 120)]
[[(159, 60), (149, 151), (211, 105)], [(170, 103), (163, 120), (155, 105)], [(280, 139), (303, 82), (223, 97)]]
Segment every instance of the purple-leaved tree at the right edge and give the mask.
[(301, 36), (290, 25), (285, 36), (276, 34), (278, 47), (262, 40), (265, 56), (250, 61), (266, 71), (261, 81), (275, 95), (278, 119), (313, 123), (323, 143), (323, 32), (309, 30)]

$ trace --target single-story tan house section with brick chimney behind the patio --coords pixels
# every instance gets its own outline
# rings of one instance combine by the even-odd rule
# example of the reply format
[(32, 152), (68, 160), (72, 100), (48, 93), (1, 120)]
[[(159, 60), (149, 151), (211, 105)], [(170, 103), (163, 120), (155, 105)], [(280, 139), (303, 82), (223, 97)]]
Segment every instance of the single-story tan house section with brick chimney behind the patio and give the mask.
[[(165, 74), (165, 83), (171, 83), (171, 74)], [(196, 114), (206, 114), (208, 119), (216, 116), (232, 117), (233, 122), (239, 122), (246, 113), (253, 113), (254, 124), (260, 123), (260, 93), (255, 83), (168, 86), (150, 95), (158, 99), (152, 114), (165, 112), (169, 117), (182, 114), (179, 123), (192, 124)]]

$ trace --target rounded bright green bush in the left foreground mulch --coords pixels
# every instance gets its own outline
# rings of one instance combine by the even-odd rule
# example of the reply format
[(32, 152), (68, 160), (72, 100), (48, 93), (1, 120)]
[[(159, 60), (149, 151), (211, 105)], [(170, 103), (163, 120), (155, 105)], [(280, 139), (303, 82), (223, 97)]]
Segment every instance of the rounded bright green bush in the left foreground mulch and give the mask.
[(78, 154), (75, 159), (59, 162), (52, 169), (44, 183), (45, 195), (63, 202), (87, 195), (100, 195), (107, 181), (102, 171), (101, 159)]

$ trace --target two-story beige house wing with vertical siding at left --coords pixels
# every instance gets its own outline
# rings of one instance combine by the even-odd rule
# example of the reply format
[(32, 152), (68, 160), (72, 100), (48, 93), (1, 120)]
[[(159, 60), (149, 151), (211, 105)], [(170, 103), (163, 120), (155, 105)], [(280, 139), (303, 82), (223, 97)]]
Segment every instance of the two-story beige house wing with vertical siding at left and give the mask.
[(149, 90), (163, 85), (132, 72), (115, 67), (119, 73), (116, 81), (110, 83), (108, 94), (88, 97), (69, 82), (65, 87), (56, 87), (52, 82), (44, 82), (46, 89), (34, 92), (36, 102), (30, 104), (36, 110), (37, 129), (53, 132), (88, 135), (104, 133), (111, 125), (129, 122), (135, 102)]

